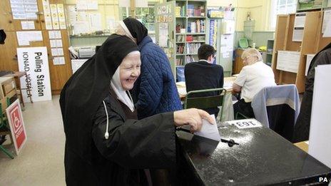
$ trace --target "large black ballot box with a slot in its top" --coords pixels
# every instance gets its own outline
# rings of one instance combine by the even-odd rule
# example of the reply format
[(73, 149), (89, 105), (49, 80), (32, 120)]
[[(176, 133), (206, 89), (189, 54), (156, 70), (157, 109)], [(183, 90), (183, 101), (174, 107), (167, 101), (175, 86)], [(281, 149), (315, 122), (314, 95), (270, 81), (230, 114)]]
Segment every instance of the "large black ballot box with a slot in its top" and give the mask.
[[(210, 140), (177, 131), (178, 172), (185, 185), (305, 185), (330, 180), (331, 169), (314, 157), (259, 125), (246, 127), (218, 123), (222, 139), (239, 145)], [(243, 123), (243, 122), (242, 122)], [(238, 125), (236, 125), (238, 124)], [(245, 123), (244, 123), (245, 124)], [(241, 127), (240, 127), (241, 126)]]

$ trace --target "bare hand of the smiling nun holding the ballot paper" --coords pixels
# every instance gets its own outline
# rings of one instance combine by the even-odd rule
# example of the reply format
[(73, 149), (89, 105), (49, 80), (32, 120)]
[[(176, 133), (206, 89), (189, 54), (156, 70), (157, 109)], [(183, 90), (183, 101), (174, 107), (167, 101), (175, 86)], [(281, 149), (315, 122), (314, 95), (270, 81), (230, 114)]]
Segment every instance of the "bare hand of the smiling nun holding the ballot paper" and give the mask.
[(173, 120), (175, 121), (175, 125), (190, 125), (190, 130), (192, 132), (201, 129), (203, 119), (208, 120), (209, 123), (216, 124), (213, 117), (211, 117), (209, 113), (205, 112), (205, 110), (189, 108), (173, 112)]

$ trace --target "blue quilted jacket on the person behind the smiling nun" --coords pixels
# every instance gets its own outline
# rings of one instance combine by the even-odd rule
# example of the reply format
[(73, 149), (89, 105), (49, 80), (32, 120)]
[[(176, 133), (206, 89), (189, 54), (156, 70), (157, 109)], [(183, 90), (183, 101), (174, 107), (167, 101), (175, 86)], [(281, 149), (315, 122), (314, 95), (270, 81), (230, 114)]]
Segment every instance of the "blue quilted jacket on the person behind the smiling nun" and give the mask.
[(157, 113), (183, 109), (170, 63), (162, 48), (150, 36), (138, 45), (141, 51), (141, 76), (133, 88), (138, 119)]

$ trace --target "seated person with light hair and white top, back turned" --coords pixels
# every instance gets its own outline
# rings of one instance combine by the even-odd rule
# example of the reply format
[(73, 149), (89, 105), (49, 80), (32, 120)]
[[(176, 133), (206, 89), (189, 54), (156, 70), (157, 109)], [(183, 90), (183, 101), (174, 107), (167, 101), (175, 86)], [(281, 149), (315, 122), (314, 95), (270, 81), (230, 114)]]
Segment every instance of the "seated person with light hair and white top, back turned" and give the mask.
[(234, 114), (241, 113), (254, 118), (250, 103), (256, 93), (267, 86), (276, 86), (275, 75), (270, 66), (263, 63), (261, 53), (255, 48), (248, 48), (241, 56), (244, 67), (233, 83), (233, 93), (240, 93), (241, 99), (233, 105)]

